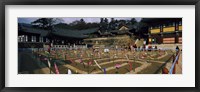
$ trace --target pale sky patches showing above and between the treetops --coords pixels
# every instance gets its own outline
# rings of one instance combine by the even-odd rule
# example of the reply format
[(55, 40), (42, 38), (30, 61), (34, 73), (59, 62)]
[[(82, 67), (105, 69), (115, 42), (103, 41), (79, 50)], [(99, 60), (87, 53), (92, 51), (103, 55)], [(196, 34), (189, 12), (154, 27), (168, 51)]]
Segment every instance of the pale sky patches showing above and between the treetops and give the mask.
[[(28, 23), (30, 24), (31, 22), (35, 21), (38, 18), (18, 18), (18, 23)], [(75, 18), (75, 17), (71, 17), (71, 18), (62, 18), (64, 23), (71, 23), (75, 20), (80, 20), (81, 17), (79, 18)], [(97, 17), (90, 17), (90, 18), (82, 18), (84, 19), (85, 22), (100, 22), (100, 18)], [(120, 19), (125, 19), (125, 20), (130, 20), (130, 17), (115, 17), (114, 19), (120, 20)], [(135, 18), (137, 21), (140, 21), (141, 18)], [(111, 18), (108, 18), (108, 20), (110, 21)]]

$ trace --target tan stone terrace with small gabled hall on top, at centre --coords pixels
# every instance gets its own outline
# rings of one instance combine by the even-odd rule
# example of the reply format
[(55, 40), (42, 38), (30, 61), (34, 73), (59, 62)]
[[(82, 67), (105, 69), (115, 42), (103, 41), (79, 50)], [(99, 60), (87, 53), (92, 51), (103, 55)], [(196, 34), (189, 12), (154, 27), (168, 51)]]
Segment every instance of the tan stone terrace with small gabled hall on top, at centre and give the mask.
[(125, 47), (133, 44), (133, 33), (129, 32), (126, 26), (118, 30), (109, 30), (105, 32), (97, 31), (91, 34), (90, 38), (84, 39), (84, 43), (93, 45), (93, 47), (120, 46)]

